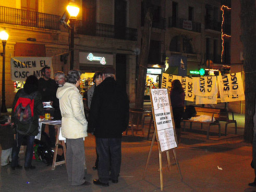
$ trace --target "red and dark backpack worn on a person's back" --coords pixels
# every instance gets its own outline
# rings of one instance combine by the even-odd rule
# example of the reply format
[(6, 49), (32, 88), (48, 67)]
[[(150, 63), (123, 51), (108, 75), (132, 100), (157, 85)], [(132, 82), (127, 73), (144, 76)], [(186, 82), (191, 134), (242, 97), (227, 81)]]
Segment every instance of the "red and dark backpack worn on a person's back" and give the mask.
[(34, 117), (34, 98), (36, 93), (37, 92), (34, 92), (32, 95), (29, 95), (25, 93), (23, 89), (21, 90), (21, 94), (14, 108), (14, 117), (16, 123), (30, 124), (31, 127)]

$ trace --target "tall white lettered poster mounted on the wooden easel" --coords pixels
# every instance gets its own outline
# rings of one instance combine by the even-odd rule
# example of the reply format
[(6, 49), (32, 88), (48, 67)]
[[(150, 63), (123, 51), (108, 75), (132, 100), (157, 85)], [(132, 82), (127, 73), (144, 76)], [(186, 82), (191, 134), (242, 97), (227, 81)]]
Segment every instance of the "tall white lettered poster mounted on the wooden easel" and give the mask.
[(175, 148), (177, 143), (174, 136), (168, 91), (166, 88), (150, 89), (150, 91), (161, 151)]

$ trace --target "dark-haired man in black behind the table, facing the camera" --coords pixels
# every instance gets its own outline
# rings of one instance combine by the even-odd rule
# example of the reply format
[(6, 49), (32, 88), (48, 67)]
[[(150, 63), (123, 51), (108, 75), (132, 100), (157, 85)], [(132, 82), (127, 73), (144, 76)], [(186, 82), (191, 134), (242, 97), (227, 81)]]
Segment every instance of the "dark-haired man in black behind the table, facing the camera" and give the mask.
[[(53, 79), (51, 79), (51, 68), (48, 66), (45, 66), (41, 69), (43, 77), (39, 79), (39, 86), (38, 91), (42, 95), (42, 101), (51, 101), (51, 104), (53, 104), (53, 101), (55, 101), (56, 98), (56, 91), (58, 88), (58, 85), (55, 83)], [(50, 111), (44, 111), (49, 113)], [(53, 114), (51, 114), (53, 115)], [(42, 125), (42, 131), (44, 131), (45, 124)], [(49, 136), (51, 140), (51, 147), (55, 146), (55, 129), (53, 125), (49, 125)]]

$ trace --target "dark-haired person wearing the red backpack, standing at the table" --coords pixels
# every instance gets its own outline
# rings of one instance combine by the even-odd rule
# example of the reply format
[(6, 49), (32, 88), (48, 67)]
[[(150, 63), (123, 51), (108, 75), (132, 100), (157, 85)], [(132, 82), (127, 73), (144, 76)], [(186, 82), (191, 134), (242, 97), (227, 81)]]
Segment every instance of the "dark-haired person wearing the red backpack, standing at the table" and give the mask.
[(32, 157), (33, 157), (33, 145), (34, 145), (34, 137), (38, 135), (38, 119), (39, 114), (43, 111), (43, 103), (42, 103), (42, 96), (38, 92), (38, 79), (30, 75), (28, 76), (26, 83), (23, 88), (19, 89), (16, 93), (13, 103), (13, 110), (11, 110), (11, 122), (15, 123), (15, 109), (16, 103), (19, 97), (23, 95), (30, 95), (34, 97), (34, 107), (33, 107), (33, 121), (32, 124), (22, 124), (17, 121), (17, 128), (16, 128), (16, 137), (15, 137), (15, 144), (13, 146), (13, 152), (11, 154), (11, 169), (21, 169), (22, 166), (18, 163), (19, 158), (19, 151), (20, 146), (22, 144), (23, 138), (27, 137), (27, 148), (26, 148), (26, 155), (25, 155), (25, 170), (35, 169), (35, 167), (31, 164)]

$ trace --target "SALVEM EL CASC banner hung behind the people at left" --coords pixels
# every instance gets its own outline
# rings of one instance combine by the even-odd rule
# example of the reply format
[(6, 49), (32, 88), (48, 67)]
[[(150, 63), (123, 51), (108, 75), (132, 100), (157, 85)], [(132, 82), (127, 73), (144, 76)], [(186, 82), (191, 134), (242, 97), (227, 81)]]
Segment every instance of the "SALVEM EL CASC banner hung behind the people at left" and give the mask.
[(53, 78), (52, 57), (11, 57), (10, 73), (12, 81), (26, 81), (30, 75), (41, 78), (41, 69), (51, 67)]

